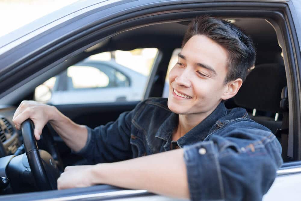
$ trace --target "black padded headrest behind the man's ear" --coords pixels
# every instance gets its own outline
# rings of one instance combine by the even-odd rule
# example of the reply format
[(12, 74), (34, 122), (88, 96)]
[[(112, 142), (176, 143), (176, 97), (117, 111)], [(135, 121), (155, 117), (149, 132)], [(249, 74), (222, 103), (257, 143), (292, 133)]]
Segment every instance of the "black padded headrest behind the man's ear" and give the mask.
[(234, 96), (236, 105), (259, 111), (281, 112), (281, 90), (287, 86), (283, 65), (260, 64), (247, 76)]

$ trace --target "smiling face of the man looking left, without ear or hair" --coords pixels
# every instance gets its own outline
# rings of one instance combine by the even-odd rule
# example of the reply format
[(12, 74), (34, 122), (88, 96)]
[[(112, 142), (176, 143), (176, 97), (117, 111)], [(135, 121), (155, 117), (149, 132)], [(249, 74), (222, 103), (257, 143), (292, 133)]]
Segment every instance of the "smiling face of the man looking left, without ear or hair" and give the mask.
[(209, 115), (227, 91), (227, 55), (207, 36), (191, 37), (169, 73), (169, 109), (177, 114)]

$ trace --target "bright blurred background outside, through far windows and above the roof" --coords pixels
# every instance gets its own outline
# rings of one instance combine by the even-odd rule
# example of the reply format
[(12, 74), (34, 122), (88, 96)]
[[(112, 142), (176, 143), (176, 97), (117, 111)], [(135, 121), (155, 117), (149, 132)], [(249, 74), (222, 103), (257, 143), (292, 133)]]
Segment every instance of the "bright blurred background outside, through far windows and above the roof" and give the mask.
[[(0, 39), (1, 36), (77, 1), (0, 0)], [(37, 86), (34, 99), (57, 104), (141, 100), (158, 51), (156, 48), (144, 48), (91, 55), (85, 61), (70, 66)], [(174, 52), (168, 72), (177, 62), (178, 52), (180, 49)], [(168, 76), (164, 91), (164, 96), (167, 97)], [(124, 95), (121, 96), (122, 93)]]

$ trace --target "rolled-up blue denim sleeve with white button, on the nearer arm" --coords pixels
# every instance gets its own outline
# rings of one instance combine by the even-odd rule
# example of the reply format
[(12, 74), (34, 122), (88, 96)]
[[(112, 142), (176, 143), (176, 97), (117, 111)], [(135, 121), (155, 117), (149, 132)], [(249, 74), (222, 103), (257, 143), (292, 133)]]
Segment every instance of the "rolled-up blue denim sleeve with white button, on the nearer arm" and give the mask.
[(275, 135), (242, 122), (184, 147), (191, 200), (262, 200), (283, 163)]

